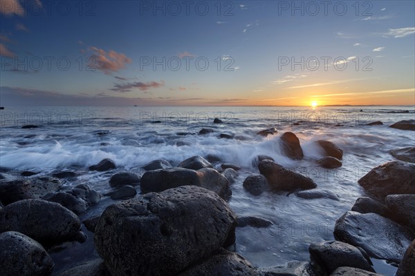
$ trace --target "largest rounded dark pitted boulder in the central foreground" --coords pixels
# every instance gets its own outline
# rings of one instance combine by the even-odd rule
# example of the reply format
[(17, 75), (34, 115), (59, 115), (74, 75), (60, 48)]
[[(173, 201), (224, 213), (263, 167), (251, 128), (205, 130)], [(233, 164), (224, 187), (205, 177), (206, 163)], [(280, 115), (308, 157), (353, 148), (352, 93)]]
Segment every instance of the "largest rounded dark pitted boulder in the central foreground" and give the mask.
[(221, 248), (236, 224), (216, 193), (183, 186), (109, 206), (95, 248), (112, 276), (175, 275)]

